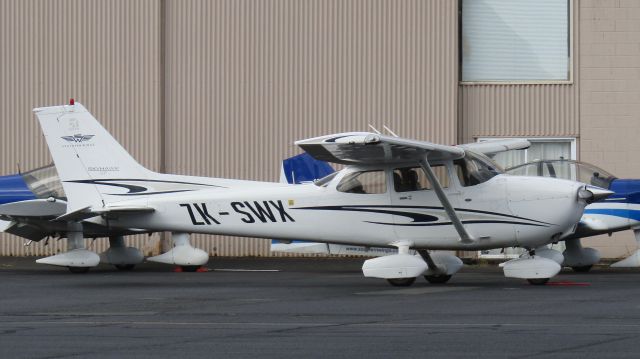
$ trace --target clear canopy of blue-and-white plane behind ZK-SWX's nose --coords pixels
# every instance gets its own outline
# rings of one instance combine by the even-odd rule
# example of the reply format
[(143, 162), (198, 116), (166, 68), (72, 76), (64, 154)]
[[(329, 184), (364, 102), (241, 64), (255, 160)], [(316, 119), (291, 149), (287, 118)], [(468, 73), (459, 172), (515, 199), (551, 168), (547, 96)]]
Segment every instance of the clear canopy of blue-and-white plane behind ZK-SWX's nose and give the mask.
[(507, 173), (515, 176), (542, 176), (563, 178), (593, 186), (609, 188), (614, 175), (585, 162), (572, 160), (534, 161), (512, 167)]

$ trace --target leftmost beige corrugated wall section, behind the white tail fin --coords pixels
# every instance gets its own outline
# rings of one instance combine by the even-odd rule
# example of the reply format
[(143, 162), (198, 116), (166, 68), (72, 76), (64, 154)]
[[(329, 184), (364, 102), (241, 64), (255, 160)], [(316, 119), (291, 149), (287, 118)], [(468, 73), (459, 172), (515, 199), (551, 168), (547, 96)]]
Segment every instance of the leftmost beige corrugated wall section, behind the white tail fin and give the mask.
[[(0, 173), (51, 162), (31, 109), (82, 102), (143, 165), (158, 169), (158, 1), (0, 1)], [(143, 247), (143, 237), (134, 242)], [(96, 242), (98, 250), (106, 240)], [(0, 237), (0, 254), (43, 255)]]

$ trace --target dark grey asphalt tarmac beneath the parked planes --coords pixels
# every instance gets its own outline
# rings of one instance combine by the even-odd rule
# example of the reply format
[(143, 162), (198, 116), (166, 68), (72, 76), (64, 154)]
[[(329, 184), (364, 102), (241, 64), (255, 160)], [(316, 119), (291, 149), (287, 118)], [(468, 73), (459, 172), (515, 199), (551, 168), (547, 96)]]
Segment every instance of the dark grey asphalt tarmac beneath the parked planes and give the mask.
[(640, 358), (640, 270), (532, 286), (472, 266), (395, 288), (361, 259), (33, 260), (0, 257), (0, 358)]

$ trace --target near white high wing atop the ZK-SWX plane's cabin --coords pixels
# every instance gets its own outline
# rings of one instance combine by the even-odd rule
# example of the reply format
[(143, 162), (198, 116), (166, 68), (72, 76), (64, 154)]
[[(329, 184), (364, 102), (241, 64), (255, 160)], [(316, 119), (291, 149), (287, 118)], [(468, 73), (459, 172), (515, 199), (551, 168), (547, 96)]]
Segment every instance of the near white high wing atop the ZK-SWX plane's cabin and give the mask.
[(368, 132), (349, 132), (297, 141), (314, 158), (340, 164), (419, 163), (458, 159), (464, 149)]

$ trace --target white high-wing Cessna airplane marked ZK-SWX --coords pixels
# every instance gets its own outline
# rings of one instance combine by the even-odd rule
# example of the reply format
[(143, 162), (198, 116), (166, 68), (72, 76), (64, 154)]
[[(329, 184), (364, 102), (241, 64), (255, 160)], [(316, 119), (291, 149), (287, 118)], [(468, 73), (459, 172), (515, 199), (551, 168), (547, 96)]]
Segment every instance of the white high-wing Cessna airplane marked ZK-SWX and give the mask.
[[(446, 282), (462, 262), (428, 250), (533, 251), (573, 234), (584, 207), (610, 193), (504, 175), (465, 148), (373, 133), (296, 142), (317, 159), (346, 165), (313, 184), (160, 174), (138, 164), (78, 103), (34, 112), (68, 198), (55, 220), (68, 223), (69, 251), (38, 262), (75, 270), (99, 262), (82, 240), (83, 226), (96, 223), (173, 232), (174, 248), (149, 260), (180, 266), (207, 262), (189, 234), (209, 233), (395, 247), (397, 254), (365, 261), (364, 275), (393, 285), (422, 275)], [(507, 263), (505, 275), (542, 284), (560, 271), (555, 261), (531, 254)]]

